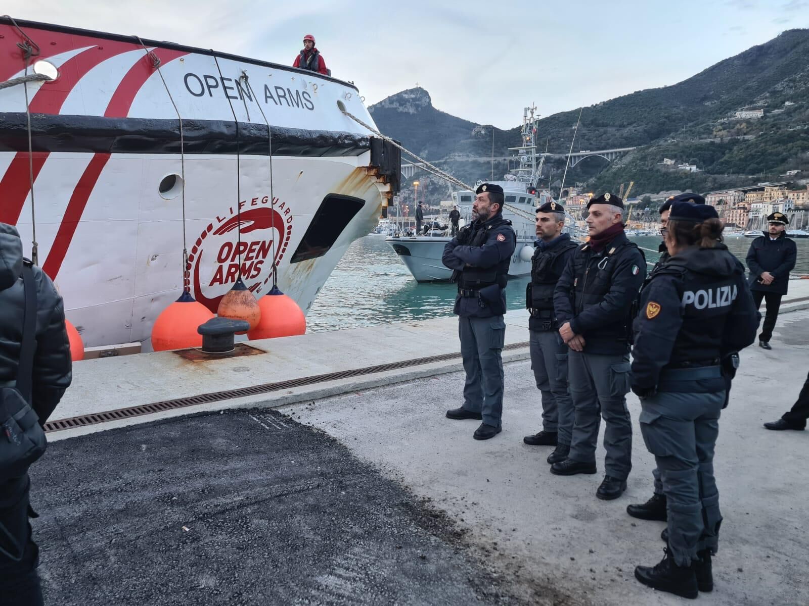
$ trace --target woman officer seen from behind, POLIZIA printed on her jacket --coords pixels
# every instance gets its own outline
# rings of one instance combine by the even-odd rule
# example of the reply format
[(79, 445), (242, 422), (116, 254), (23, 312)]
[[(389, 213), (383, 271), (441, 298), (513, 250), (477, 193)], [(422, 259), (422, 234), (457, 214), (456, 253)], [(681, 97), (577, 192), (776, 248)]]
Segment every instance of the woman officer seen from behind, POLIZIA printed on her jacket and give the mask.
[(634, 322), (632, 390), (668, 508), (666, 555), (658, 566), (637, 566), (635, 577), (687, 598), (713, 588), (722, 522), (714, 446), (726, 403), (720, 361), (752, 343), (758, 324), (741, 263), (718, 245), (722, 229), (712, 206), (671, 205), (671, 259), (643, 290)]

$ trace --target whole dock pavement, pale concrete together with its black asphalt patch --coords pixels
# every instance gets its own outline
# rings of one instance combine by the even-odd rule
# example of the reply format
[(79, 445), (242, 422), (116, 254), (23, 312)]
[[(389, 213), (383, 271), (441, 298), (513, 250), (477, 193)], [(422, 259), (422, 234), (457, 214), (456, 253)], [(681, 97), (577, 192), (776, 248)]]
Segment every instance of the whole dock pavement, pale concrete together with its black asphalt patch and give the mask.
[[(761, 427), (807, 376), (807, 321), (809, 280), (793, 280), (773, 351), (742, 353), (702, 603), (809, 604), (809, 431)], [(651, 494), (637, 398), (629, 488), (599, 501), (600, 475), (553, 476), (550, 449), (522, 443), (540, 429), (527, 336), (509, 312), (503, 431), (485, 442), (443, 416), (463, 385), (455, 318), (250, 342), (255, 355), (226, 360), (75, 364), (52, 422), (220, 399), (49, 434), (32, 469), (46, 603), (680, 603), (633, 578), (663, 557), (663, 524), (625, 513)]]

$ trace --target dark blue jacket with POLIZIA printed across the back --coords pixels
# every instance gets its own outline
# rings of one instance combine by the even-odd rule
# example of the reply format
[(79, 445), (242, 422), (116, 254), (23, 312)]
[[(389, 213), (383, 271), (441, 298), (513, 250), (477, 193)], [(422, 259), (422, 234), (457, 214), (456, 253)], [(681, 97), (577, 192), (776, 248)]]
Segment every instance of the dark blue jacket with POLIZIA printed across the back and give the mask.
[[(634, 322), (632, 385), (659, 385), (664, 368), (712, 366), (756, 339), (759, 314), (744, 267), (726, 246), (692, 246), (671, 257), (643, 288)], [(726, 389), (694, 381), (695, 393)]]

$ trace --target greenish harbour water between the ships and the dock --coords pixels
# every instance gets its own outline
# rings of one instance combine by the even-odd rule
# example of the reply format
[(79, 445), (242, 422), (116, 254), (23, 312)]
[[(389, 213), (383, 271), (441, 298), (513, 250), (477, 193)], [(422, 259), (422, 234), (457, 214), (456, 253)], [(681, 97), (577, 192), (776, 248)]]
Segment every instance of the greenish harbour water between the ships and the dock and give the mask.
[[(638, 246), (657, 250), (660, 238), (633, 238)], [(744, 261), (751, 238), (727, 238), (731, 252)], [(809, 274), (809, 239), (795, 240), (794, 272)], [(654, 263), (656, 252), (645, 251)], [(508, 309), (523, 309), (528, 276), (509, 280)], [(317, 295), (307, 317), (307, 331), (339, 330), (391, 322), (444, 318), (452, 315), (455, 284), (418, 284), (396, 253), (379, 236), (359, 238), (349, 247)]]

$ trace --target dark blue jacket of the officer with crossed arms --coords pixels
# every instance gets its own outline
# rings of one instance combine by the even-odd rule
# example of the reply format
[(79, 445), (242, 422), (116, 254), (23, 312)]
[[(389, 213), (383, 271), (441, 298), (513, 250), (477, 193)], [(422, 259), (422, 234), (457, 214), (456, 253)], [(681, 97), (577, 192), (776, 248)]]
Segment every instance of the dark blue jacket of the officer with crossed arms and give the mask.
[[(503, 220), (502, 213), (489, 221), (472, 221), (447, 242), (441, 261), (454, 270), (453, 280), (459, 283), (455, 314), (464, 318), (491, 318), (506, 313), (508, 268), (516, 246), (517, 235), (511, 221)], [(464, 286), (464, 275), (482, 273), (494, 276), (492, 285), (480, 289), (481, 297), (462, 297), (460, 288)]]

